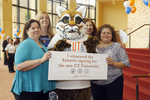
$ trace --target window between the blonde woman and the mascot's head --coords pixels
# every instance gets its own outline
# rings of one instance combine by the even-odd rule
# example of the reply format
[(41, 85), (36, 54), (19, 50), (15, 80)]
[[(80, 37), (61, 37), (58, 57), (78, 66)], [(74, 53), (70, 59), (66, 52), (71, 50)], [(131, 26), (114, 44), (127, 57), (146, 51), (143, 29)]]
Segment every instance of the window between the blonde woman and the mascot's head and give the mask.
[(47, 13), (50, 17), (54, 34), (56, 33), (55, 27), (59, 20), (56, 13), (56, 7), (59, 5), (68, 9), (68, 0), (47, 0)]

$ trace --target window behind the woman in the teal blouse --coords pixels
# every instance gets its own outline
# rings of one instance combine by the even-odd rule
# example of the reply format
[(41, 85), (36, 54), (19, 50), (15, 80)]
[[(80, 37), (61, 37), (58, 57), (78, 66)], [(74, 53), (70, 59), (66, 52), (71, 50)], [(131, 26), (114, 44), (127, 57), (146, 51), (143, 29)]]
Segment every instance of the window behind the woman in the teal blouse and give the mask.
[[(24, 24), (37, 14), (37, 0), (12, 0), (13, 34), (19, 29), (23, 31)], [(14, 35), (13, 35), (14, 36)]]

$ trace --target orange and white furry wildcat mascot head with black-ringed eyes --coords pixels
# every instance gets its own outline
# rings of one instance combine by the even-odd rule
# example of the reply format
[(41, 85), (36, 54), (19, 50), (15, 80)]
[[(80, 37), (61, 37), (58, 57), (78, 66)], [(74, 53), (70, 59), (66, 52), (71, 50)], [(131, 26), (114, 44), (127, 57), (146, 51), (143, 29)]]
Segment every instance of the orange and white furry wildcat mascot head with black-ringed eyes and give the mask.
[(61, 38), (78, 40), (86, 34), (86, 25), (83, 21), (86, 16), (86, 6), (80, 6), (76, 10), (67, 10), (58, 6), (56, 12), (60, 18), (56, 25), (56, 31)]

